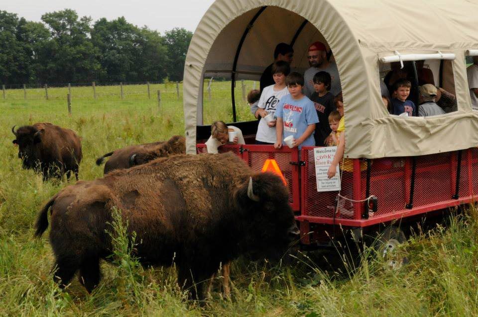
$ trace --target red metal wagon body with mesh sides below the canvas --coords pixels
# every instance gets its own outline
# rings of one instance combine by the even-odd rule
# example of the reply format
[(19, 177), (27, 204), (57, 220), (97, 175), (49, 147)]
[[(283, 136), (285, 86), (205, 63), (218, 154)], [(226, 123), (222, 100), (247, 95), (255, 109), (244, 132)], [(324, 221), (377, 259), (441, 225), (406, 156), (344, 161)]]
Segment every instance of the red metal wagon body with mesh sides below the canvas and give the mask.
[[(478, 198), (478, 149), (473, 148), (416, 158), (370, 159), (365, 170), (360, 170), (360, 159), (353, 159), (354, 171), (342, 179), (341, 195), (348, 200), (340, 210), (336, 208), (338, 191), (317, 191), (313, 150), (314, 147), (302, 148), (299, 160), (296, 148), (276, 150), (263, 145), (220, 148), (220, 152), (234, 152), (255, 171), (260, 171), (268, 158), (277, 161), (287, 181), (289, 203), (296, 212), (304, 244), (326, 237), (323, 231), (330, 226), (367, 229), (471, 203)], [(205, 145), (198, 144), (197, 152), (206, 153)], [(364, 201), (370, 196), (377, 198), (374, 212)], [(316, 225), (321, 225), (321, 229), (312, 230)]]

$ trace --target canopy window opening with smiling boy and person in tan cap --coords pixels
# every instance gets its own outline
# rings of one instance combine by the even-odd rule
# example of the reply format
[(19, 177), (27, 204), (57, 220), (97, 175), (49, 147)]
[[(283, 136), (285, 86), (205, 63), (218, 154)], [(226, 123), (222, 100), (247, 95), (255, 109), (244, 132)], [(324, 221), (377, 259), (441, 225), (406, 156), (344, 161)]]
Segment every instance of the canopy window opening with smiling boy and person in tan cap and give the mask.
[(379, 63), (381, 92), (388, 93), (391, 101), (388, 112), (401, 117), (429, 117), (457, 111), (451, 55), (449, 59), (420, 59), (426, 55), (416, 54), (413, 60), (402, 61), (403, 65), (396, 61)]

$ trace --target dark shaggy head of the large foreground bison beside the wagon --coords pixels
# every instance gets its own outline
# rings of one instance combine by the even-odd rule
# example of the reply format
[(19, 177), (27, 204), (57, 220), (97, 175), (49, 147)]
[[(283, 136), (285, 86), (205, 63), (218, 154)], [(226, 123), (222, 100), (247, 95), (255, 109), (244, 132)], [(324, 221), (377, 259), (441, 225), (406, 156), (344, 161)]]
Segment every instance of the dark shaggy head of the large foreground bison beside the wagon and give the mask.
[(236, 203), (244, 215), (241, 244), (254, 258), (277, 258), (299, 240), (289, 194), (282, 180), (272, 173), (252, 176), (239, 188)]

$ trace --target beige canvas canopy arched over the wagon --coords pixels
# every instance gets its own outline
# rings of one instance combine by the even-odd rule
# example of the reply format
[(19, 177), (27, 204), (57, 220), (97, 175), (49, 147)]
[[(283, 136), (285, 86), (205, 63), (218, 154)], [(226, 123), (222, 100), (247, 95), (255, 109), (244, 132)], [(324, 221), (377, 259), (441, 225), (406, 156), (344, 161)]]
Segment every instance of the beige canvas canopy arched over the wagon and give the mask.
[[(476, 0), (217, 0), (200, 21), (186, 57), (187, 152), (196, 153), (205, 75), (258, 79), (280, 42), (294, 42), (291, 66), (303, 71), (307, 47), (317, 40), (332, 50), (339, 69), (347, 157), (475, 147), (478, 112), (471, 107), (465, 56), (478, 49), (477, 13)], [(379, 89), (380, 59), (397, 54), (454, 54), (453, 78), (444, 80), (454, 82), (458, 111), (427, 118), (388, 114)]]

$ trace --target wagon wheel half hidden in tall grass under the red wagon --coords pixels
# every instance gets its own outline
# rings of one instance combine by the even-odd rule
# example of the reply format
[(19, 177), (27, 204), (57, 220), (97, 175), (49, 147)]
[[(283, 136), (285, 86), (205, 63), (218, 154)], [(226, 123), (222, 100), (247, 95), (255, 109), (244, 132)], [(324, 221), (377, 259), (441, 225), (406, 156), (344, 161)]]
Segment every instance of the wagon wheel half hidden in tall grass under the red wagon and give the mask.
[(387, 267), (396, 270), (408, 263), (406, 256), (396, 254), (397, 247), (406, 241), (407, 238), (400, 228), (390, 226), (377, 234), (374, 248), (377, 250), (379, 258), (386, 262)]

